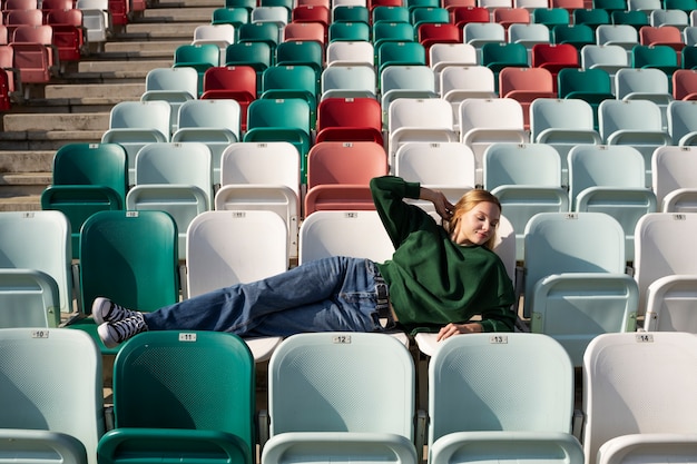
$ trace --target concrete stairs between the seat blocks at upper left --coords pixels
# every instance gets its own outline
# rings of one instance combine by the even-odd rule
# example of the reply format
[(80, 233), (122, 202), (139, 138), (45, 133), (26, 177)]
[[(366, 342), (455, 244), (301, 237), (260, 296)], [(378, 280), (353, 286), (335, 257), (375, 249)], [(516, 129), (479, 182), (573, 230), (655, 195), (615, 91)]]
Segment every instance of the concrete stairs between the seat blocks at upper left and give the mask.
[(50, 83), (30, 88), (0, 120), (0, 211), (41, 209), (41, 191), (51, 184), (55, 151), (70, 142), (98, 142), (119, 101), (138, 100), (145, 77), (169, 67), (175, 49), (189, 43), (194, 29), (210, 22), (222, 0), (160, 1), (115, 31)]

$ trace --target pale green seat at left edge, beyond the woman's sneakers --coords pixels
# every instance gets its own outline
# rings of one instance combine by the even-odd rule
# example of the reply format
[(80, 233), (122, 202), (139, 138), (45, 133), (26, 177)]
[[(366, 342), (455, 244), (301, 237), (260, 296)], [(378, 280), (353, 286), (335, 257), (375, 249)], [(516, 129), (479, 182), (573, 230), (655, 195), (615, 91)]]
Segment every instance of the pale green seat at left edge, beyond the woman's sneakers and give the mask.
[(70, 223), (60, 211), (4, 211), (0, 229), (0, 327), (57, 327), (73, 312)]

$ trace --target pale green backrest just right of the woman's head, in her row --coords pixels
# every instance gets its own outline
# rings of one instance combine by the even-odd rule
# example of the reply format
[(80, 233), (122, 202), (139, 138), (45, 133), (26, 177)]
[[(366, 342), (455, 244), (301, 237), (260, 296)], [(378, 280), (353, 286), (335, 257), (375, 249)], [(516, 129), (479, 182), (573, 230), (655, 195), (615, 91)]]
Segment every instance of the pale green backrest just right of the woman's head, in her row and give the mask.
[[(592, 244), (588, 237), (597, 240)], [(602, 213), (541, 213), (524, 230), (526, 294), (543, 277), (561, 273), (624, 274), (625, 233)]]

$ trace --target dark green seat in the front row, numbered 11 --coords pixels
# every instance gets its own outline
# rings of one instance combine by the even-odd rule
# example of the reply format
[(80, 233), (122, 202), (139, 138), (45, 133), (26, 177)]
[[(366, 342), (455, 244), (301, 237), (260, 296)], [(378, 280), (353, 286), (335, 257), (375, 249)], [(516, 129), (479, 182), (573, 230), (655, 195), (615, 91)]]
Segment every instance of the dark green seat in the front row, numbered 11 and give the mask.
[(99, 441), (99, 464), (254, 463), (254, 373), (236, 335), (138, 334), (115, 361), (115, 428)]

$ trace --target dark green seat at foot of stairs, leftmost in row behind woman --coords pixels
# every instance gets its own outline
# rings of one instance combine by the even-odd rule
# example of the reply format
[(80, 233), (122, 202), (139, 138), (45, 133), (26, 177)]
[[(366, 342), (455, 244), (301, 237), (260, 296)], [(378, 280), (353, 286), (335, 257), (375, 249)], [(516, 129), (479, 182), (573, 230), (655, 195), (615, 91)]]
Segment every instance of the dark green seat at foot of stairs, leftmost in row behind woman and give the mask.
[(59, 210), (70, 221), (71, 258), (80, 257), (80, 229), (88, 217), (125, 208), (127, 164), (118, 144), (67, 144), (53, 155), (52, 184), (41, 192), (41, 209)]

